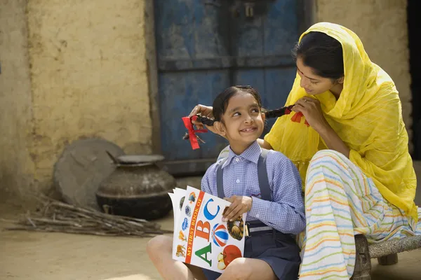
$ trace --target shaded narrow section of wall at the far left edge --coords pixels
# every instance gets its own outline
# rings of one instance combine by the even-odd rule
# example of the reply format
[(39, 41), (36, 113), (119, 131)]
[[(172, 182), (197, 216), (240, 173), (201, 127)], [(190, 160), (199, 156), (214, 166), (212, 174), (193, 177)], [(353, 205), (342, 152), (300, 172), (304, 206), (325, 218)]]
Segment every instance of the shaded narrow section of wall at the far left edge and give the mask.
[(0, 1), (0, 200), (32, 190), (27, 0)]

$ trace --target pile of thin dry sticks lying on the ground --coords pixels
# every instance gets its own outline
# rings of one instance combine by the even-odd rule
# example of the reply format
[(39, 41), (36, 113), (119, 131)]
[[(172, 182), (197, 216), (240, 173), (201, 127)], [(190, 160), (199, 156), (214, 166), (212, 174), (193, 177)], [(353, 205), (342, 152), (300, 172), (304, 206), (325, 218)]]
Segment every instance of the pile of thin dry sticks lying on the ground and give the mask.
[(83, 235), (153, 237), (171, 230), (161, 230), (157, 223), (138, 218), (114, 216), (95, 209), (76, 207), (50, 197), (39, 197), (41, 207), (28, 211), (6, 230), (67, 232)]

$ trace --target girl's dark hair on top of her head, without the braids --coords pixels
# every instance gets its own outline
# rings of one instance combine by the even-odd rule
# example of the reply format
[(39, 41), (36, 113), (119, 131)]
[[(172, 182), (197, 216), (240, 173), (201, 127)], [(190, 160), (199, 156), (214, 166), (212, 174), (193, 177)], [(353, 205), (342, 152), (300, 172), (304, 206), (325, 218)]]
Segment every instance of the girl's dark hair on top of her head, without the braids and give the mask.
[(228, 87), (224, 91), (222, 91), (213, 101), (213, 118), (216, 122), (220, 122), (222, 119), (222, 115), (224, 115), (225, 111), (227, 110), (228, 102), (231, 97), (239, 92), (246, 92), (256, 99), (258, 102), (259, 108), (262, 108), (262, 101), (260, 99), (260, 94), (257, 90), (250, 85), (235, 85), (234, 87)]

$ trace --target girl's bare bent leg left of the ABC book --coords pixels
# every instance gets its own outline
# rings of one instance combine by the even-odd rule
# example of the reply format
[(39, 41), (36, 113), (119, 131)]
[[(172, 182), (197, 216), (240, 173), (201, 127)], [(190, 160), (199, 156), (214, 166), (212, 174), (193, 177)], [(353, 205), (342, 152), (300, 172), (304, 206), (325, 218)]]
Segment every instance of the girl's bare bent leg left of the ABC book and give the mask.
[(147, 243), (147, 253), (154, 266), (165, 280), (206, 280), (203, 271), (193, 265), (173, 260), (173, 239), (165, 235), (159, 235)]

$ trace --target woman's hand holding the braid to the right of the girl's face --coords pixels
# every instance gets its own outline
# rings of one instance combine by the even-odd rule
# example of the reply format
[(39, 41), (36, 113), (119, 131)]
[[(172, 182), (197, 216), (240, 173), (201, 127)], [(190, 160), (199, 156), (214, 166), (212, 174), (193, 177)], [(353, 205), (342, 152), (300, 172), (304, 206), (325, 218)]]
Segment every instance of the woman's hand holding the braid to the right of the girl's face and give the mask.
[(328, 121), (323, 116), (319, 100), (311, 97), (302, 97), (295, 102), (293, 111), (301, 112), (305, 116), (305, 120), (317, 132), (323, 128), (330, 127)]

